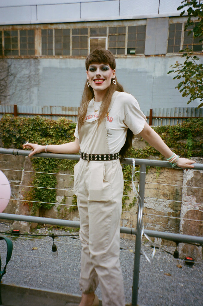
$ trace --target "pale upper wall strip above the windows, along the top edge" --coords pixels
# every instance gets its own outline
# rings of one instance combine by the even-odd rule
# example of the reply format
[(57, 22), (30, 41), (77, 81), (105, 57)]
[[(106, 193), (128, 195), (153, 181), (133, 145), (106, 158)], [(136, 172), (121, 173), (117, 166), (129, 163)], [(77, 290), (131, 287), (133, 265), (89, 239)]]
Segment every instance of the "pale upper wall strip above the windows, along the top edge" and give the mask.
[(179, 16), (181, 0), (1, 0), (0, 24)]

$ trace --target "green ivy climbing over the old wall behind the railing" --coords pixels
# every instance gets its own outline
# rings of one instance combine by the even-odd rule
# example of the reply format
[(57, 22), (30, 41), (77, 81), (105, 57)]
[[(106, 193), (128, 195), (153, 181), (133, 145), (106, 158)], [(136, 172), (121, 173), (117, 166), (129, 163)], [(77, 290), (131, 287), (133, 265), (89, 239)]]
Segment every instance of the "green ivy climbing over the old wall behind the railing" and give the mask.
[[(3, 146), (7, 148), (22, 149), (22, 144), (27, 141), (42, 145), (62, 144), (74, 141), (75, 126), (76, 123), (66, 118), (55, 121), (40, 116), (21, 118), (4, 115), (0, 120), (0, 137)], [(158, 126), (154, 127), (154, 130), (176, 154), (182, 157), (203, 157), (203, 118), (187, 119), (182, 124), (174, 126)], [(148, 144), (144, 149), (131, 148), (128, 152), (129, 158), (150, 159), (152, 156), (164, 159), (158, 151)], [(72, 171), (73, 173), (73, 166), (77, 161), (35, 157), (31, 159), (36, 173), (30, 185), (35, 188), (30, 189), (26, 200), (31, 203), (29, 205), (32, 214), (35, 214), (36, 209), (51, 209), (56, 203), (56, 190), (53, 188), (56, 188), (57, 180), (54, 173), (58, 173), (59, 170)], [(126, 201), (129, 200), (128, 192), (131, 190), (131, 166), (123, 164), (122, 167), (125, 181), (122, 205), (123, 208), (126, 208)], [(139, 170), (139, 167), (136, 170)], [(73, 196), (72, 202), (73, 206), (69, 211), (74, 211), (77, 207), (75, 196)], [(128, 206), (131, 207), (134, 203), (135, 199)]]

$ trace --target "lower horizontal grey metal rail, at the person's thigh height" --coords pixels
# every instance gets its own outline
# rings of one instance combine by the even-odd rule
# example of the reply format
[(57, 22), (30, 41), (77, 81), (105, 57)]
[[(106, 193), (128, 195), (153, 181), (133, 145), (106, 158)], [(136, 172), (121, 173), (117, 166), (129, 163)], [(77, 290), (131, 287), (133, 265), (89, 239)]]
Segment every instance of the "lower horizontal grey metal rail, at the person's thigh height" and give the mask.
[[(79, 221), (61, 220), (61, 219), (53, 219), (53, 218), (42, 218), (42, 217), (34, 217), (34, 216), (24, 216), (24, 215), (13, 215), (13, 214), (0, 213), (0, 219), (33, 222), (33, 223), (41, 223), (41, 224), (52, 224), (52, 225), (80, 228), (80, 222)], [(121, 226), (120, 227), (120, 233), (137, 235), (137, 230), (135, 228), (129, 228), (129, 227)], [(203, 237), (182, 235), (182, 234), (175, 234), (175, 233), (167, 233), (167, 232), (158, 232), (158, 231), (153, 231), (153, 230), (144, 230), (144, 233), (147, 234), (149, 237), (157, 237), (157, 238), (162, 238), (162, 239), (165, 239), (165, 240), (185, 242), (185, 243), (203, 244)]]

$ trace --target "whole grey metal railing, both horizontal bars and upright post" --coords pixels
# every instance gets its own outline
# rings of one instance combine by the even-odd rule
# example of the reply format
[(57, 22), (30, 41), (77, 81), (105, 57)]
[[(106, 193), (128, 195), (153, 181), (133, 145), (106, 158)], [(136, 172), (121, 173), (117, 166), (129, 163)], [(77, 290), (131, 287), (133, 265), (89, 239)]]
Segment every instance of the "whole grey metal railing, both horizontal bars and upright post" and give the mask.
[[(18, 149), (3, 149), (0, 148), (0, 154), (6, 155), (18, 155), (18, 156), (28, 156), (29, 151), (18, 150)], [(56, 159), (71, 159), (79, 160), (79, 155), (73, 154), (54, 154), (54, 153), (40, 153), (34, 155), (34, 157), (43, 157), (43, 158), (56, 158)], [(157, 160), (148, 160), (148, 159), (125, 159), (122, 161), (124, 164), (128, 165), (139, 165), (140, 166), (140, 175), (139, 175), (139, 199), (138, 199), (138, 211), (137, 211), (137, 227), (128, 228), (120, 227), (121, 233), (136, 235), (135, 242), (135, 255), (134, 255), (134, 270), (133, 270), (133, 289), (132, 289), (132, 306), (137, 305), (138, 299), (138, 283), (139, 283), (139, 270), (140, 270), (140, 255), (141, 255), (141, 239), (142, 239), (142, 219), (143, 219), (143, 208), (144, 208), (144, 196), (145, 196), (145, 178), (146, 178), (146, 167), (165, 167), (171, 168), (168, 162), (166, 161), (157, 161)], [(179, 167), (174, 167), (180, 169)], [(203, 164), (194, 164), (194, 170), (203, 170)], [(70, 226), (79, 228), (80, 222), (70, 221), (70, 220), (60, 220), (52, 218), (40, 218), (33, 216), (24, 216), (24, 215), (12, 215), (0, 213), (0, 219), (6, 220), (16, 220), (16, 221), (25, 221), (25, 222), (36, 222), (42, 224), (52, 224), (60, 226)], [(168, 233), (154, 230), (144, 230), (144, 234), (149, 237), (157, 237), (165, 240), (175, 241), (176, 243), (196, 243), (203, 245), (203, 237), (183, 235), (177, 233)]]

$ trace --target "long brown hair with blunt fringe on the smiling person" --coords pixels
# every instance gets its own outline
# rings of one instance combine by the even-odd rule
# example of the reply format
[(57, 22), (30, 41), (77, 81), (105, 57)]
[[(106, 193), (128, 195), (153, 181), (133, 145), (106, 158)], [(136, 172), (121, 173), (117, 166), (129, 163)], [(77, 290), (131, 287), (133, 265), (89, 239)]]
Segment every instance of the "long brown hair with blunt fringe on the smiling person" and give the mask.
[[(87, 71), (89, 69), (89, 65), (91, 65), (92, 63), (108, 64), (112, 70), (116, 68), (115, 57), (113, 53), (109, 50), (102, 49), (102, 48), (97, 48), (96, 50), (94, 50), (92, 53), (90, 53), (87, 56), (86, 61), (85, 61), (85, 68)], [(116, 84), (112, 82), (113, 80), (116, 81)], [(112, 98), (114, 91), (124, 91), (122, 85), (118, 83), (116, 77), (111, 80), (111, 85), (109, 86), (103, 98), (103, 101), (100, 107), (100, 111), (99, 111), (98, 126), (100, 125), (103, 118), (105, 118), (107, 115), (108, 108), (111, 103), (111, 98)], [(86, 80), (85, 88), (84, 88), (83, 95), (82, 95), (80, 110), (78, 113), (78, 120), (77, 120), (78, 132), (80, 132), (81, 126), (84, 123), (84, 119), (87, 114), (88, 104), (93, 98), (94, 98), (94, 91), (91, 86), (88, 87), (87, 80)], [(126, 142), (124, 146), (122, 147), (122, 149), (120, 150), (120, 155), (123, 158), (126, 157), (126, 151), (130, 147), (132, 147), (132, 140), (133, 140), (133, 132), (130, 129), (128, 129), (127, 136), (126, 136)]]

